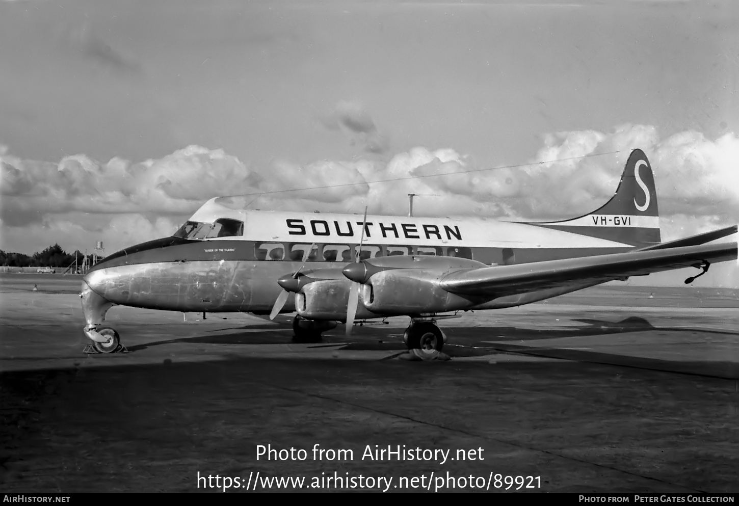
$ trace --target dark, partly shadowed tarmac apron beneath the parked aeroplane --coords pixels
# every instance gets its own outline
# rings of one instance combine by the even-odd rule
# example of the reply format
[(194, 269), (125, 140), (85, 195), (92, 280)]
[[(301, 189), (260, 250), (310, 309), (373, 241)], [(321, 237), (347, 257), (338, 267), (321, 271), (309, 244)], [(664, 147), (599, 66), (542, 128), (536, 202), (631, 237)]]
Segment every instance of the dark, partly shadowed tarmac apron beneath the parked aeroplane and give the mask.
[[(256, 473), (385, 476), (392, 491), (498, 473), (539, 476), (519, 491), (739, 489), (739, 290), (616, 285), (466, 312), (439, 322), (451, 360), (415, 362), (401, 360), (408, 318), (296, 343), (290, 315), (130, 307), (106, 318), (129, 352), (87, 355), (80, 282), (0, 274), (7, 492), (217, 490), (199, 472), (250, 490)], [(257, 459), (259, 445), (307, 458)], [(353, 458), (314, 459), (315, 445)], [(450, 459), (369, 459), (368, 445)]]

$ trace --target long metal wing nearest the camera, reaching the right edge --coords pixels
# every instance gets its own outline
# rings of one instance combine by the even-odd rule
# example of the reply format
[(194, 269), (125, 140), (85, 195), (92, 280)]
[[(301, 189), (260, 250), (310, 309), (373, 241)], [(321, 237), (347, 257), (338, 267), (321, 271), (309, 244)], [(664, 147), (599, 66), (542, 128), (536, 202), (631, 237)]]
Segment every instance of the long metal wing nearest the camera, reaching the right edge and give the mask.
[(701, 267), (705, 262), (710, 264), (736, 258), (736, 242), (636, 250), (613, 255), (462, 270), (441, 279), (440, 286), (460, 295), (502, 297), (560, 287), (573, 282), (596, 284), (625, 276), (642, 276), (690, 266)]

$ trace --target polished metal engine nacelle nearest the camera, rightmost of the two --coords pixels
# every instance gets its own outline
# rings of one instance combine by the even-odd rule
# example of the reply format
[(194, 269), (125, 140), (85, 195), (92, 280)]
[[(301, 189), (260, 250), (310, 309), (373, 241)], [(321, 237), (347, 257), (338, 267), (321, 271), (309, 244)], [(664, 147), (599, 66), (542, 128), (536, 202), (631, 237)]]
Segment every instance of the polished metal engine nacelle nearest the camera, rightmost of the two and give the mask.
[(360, 290), (367, 310), (381, 315), (414, 315), (466, 310), (486, 301), (457, 295), (438, 284), (438, 270), (393, 269), (374, 273)]

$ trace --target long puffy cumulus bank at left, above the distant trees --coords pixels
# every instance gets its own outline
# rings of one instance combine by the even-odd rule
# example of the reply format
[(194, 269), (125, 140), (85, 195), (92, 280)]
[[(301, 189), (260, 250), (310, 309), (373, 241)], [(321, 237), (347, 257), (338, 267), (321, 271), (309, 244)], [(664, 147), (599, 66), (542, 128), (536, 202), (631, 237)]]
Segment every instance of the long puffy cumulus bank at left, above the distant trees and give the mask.
[(9, 225), (46, 213), (183, 214), (213, 196), (255, 191), (260, 178), (221, 149), (188, 146), (159, 160), (101, 164), (84, 154), (59, 163), (0, 155), (0, 217)]

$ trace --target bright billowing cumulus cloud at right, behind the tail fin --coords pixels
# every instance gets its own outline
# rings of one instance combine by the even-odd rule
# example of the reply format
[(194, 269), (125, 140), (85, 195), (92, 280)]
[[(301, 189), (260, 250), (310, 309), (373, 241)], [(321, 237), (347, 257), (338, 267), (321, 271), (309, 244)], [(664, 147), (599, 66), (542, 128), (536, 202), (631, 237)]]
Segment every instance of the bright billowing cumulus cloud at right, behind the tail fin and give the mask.
[(426, 185), (436, 193), (471, 199), (492, 213), (495, 208), (488, 202), (497, 202), (510, 216), (556, 219), (607, 202), (633, 148), (641, 148), (650, 159), (661, 215), (739, 220), (739, 137), (732, 133), (708, 140), (686, 131), (660, 140), (655, 127), (643, 125), (623, 125), (607, 134), (557, 132), (546, 135), (544, 146), (522, 167), (477, 171), (483, 167), (436, 158), (413, 173), (455, 173), (429, 177)]

